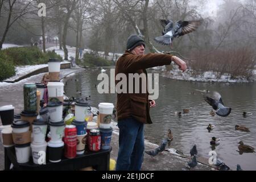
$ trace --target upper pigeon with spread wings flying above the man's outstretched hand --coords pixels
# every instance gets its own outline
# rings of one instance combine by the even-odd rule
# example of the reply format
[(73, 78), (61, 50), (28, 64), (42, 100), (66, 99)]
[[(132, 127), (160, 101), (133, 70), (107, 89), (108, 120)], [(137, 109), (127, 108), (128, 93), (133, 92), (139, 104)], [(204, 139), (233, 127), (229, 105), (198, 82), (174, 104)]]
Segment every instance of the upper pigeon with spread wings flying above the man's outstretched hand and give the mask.
[(154, 40), (159, 44), (168, 46), (172, 44), (174, 38), (178, 38), (179, 36), (183, 36), (185, 34), (189, 34), (192, 31), (195, 31), (202, 23), (202, 20), (179, 20), (174, 24), (172, 20), (161, 19), (160, 22), (164, 27), (162, 33), (163, 35), (157, 36)]

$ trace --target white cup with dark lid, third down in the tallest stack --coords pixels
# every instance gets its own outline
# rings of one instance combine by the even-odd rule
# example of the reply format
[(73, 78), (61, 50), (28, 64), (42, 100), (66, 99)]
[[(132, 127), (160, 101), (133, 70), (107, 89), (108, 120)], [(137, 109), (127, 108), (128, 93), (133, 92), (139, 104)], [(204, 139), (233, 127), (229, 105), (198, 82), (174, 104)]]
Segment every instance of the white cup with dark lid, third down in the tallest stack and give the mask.
[(60, 122), (63, 114), (62, 102), (49, 102), (48, 105), (49, 118), (51, 122)]

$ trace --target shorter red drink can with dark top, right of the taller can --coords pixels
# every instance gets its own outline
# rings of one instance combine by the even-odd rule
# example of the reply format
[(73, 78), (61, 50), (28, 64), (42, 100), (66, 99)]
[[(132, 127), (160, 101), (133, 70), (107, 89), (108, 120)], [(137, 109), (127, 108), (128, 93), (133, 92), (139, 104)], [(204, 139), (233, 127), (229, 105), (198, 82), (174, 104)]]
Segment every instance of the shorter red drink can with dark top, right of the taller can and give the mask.
[(100, 130), (90, 130), (89, 134), (89, 150), (99, 151), (101, 150), (101, 133)]

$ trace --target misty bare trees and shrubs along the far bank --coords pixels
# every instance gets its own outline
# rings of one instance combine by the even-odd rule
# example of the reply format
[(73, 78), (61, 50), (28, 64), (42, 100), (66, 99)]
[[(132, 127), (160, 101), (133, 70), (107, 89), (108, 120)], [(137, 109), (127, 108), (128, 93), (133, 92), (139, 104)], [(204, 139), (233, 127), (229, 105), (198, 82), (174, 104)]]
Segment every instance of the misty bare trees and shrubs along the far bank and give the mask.
[[(30, 44), (31, 38), (57, 36), (60, 49), (90, 48), (122, 53), (131, 34), (142, 34), (147, 52), (167, 51), (199, 71), (229, 72), (250, 77), (255, 65), (256, 0), (224, 0), (210, 16), (210, 0), (0, 0), (0, 49), (4, 42)], [(46, 4), (46, 17), (38, 4)], [(173, 48), (154, 42), (162, 35), (160, 19), (197, 20), (203, 24), (175, 39)], [(44, 52), (46, 47), (43, 47)], [(221, 66), (220, 66), (221, 65)]]

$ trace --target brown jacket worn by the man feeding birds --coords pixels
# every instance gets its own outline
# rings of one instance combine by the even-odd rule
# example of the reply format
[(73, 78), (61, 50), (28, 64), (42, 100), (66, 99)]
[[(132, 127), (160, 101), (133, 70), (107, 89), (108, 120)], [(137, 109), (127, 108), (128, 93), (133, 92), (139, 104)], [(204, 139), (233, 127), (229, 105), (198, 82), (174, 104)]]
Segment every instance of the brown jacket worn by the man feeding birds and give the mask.
[[(134, 117), (139, 122), (151, 124), (150, 103), (148, 101), (148, 92), (142, 92), (142, 82), (139, 82), (140, 92), (129, 93), (128, 78), (129, 73), (146, 74), (146, 68), (152, 68), (171, 64), (172, 55), (148, 53), (147, 55), (134, 55), (126, 51), (115, 65), (115, 76), (118, 73), (124, 73), (127, 77), (127, 93), (117, 94), (117, 119)], [(115, 80), (115, 85), (121, 80)], [(147, 88), (146, 88), (147, 91)]]

